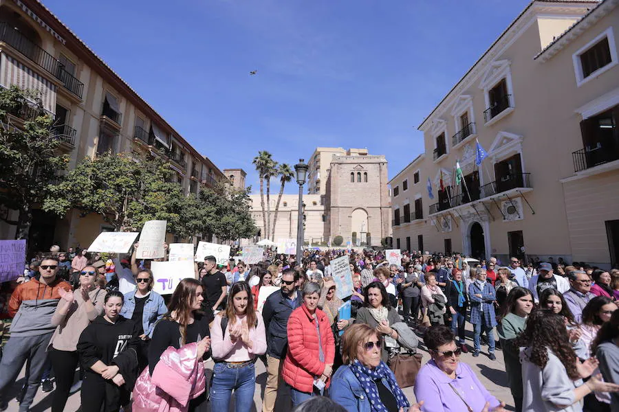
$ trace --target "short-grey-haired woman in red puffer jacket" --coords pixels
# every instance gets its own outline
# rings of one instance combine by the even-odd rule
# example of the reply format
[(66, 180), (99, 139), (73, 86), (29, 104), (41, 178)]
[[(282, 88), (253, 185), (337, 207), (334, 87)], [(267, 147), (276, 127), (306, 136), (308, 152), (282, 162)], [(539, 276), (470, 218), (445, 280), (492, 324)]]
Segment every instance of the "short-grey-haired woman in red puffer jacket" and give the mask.
[(281, 373), (292, 387), (292, 407), (322, 395), (331, 383), (335, 339), (327, 314), (317, 308), (320, 297), (318, 284), (305, 284), (303, 305), (288, 319), (288, 351)]

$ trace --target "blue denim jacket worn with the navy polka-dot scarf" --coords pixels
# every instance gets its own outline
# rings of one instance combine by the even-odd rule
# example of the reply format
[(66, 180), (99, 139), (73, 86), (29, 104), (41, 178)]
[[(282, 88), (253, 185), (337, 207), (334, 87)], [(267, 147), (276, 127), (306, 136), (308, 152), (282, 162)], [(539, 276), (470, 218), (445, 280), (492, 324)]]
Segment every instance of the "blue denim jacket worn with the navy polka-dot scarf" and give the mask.
[[(393, 374), (391, 371), (389, 373)], [(391, 391), (387, 378), (382, 378), (382, 383)], [(338, 367), (331, 380), (329, 398), (344, 407), (347, 412), (371, 412), (372, 410), (365, 391), (349, 365)]]

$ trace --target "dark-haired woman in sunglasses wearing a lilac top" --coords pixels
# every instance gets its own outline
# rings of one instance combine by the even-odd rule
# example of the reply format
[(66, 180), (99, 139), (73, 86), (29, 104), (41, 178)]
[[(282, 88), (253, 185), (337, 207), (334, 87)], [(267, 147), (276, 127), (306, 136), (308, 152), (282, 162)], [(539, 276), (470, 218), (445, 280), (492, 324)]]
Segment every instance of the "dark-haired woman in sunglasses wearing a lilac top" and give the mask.
[(455, 336), (444, 325), (426, 332), (424, 343), (431, 360), (417, 374), (415, 398), (432, 412), (505, 412), (505, 404), (481, 385), (473, 369), (460, 362), (461, 350)]

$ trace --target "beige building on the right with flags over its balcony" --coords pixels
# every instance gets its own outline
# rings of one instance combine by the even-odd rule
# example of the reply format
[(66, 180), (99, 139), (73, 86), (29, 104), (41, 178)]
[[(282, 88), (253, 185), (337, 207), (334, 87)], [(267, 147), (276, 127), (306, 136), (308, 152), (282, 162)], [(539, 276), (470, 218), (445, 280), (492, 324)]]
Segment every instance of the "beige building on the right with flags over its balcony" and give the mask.
[(532, 1), (492, 43), (390, 181), (394, 247), (618, 262), (618, 3)]

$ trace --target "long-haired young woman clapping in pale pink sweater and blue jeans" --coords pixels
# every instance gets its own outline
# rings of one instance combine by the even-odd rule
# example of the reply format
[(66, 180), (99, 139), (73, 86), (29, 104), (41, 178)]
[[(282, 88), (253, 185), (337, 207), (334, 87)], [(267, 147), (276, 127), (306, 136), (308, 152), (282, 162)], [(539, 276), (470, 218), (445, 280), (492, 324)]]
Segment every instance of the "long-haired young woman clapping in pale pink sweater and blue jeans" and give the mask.
[(249, 412), (256, 389), (254, 362), (266, 352), (266, 336), (264, 321), (254, 310), (247, 282), (232, 285), (228, 306), (215, 316), (210, 337), (215, 361), (210, 409), (228, 411), (230, 396), (235, 391), (235, 411)]

